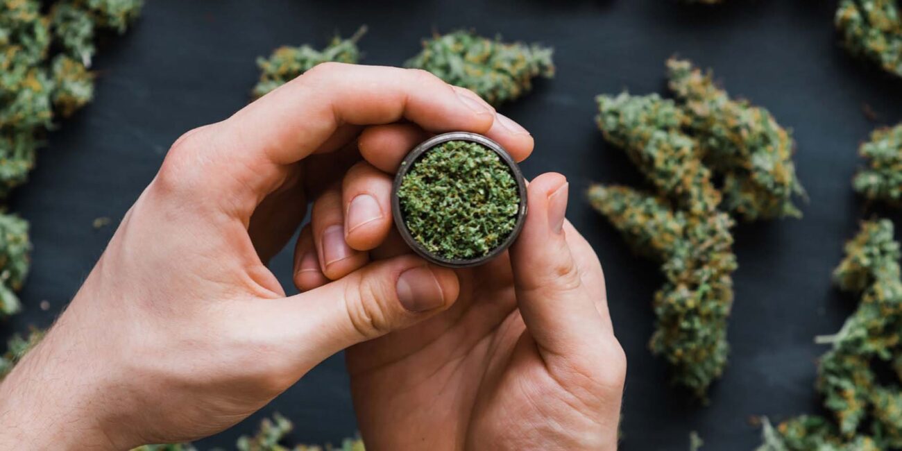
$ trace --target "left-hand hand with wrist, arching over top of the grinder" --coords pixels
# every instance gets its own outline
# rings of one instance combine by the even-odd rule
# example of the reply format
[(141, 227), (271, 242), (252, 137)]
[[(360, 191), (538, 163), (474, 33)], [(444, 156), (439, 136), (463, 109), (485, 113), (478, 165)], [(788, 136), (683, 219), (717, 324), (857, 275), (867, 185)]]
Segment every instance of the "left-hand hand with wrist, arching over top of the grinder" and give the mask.
[[(0, 449), (204, 437), (327, 356), (450, 307), (455, 273), (410, 255), (290, 297), (265, 266), (307, 199), (360, 159), (364, 127), (400, 120), (485, 133), (519, 158), (532, 148), (470, 91), (422, 71), (340, 64), (186, 133), (69, 308), (0, 384)], [(323, 273), (363, 266), (365, 253), (335, 247), (334, 229), (316, 232), (332, 246), (320, 253)]]

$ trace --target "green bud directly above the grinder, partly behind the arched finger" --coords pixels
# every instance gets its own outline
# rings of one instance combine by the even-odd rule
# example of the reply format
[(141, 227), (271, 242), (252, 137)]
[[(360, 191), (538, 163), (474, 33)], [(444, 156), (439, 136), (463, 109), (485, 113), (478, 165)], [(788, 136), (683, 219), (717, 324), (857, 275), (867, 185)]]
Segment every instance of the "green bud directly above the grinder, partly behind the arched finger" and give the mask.
[(464, 30), (423, 41), (423, 51), (405, 63), (466, 87), (498, 106), (532, 89), (532, 79), (552, 78), (552, 50), (538, 44), (506, 43)]

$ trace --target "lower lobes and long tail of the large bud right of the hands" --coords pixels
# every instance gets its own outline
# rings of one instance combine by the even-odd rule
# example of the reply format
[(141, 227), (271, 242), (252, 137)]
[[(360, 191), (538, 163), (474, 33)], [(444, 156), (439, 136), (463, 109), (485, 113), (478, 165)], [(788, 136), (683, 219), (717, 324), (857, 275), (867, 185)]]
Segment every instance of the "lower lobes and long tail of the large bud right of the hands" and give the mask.
[(637, 252), (662, 262), (667, 281), (655, 293), (649, 346), (672, 365), (676, 383), (704, 398), (730, 349), (732, 218), (675, 210), (666, 198), (627, 187), (595, 185), (588, 197)]

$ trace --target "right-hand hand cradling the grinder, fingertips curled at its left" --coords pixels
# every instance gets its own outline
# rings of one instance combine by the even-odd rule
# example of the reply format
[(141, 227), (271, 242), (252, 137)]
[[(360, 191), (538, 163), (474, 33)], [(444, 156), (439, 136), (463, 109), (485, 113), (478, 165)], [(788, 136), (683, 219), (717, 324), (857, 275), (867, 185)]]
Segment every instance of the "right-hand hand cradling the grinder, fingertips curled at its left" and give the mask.
[[(385, 172), (425, 134), (409, 124), (364, 132), (361, 152), (379, 149), (379, 158), (358, 163), (341, 187), (327, 189), (314, 205), (312, 229), (340, 221), (362, 194), (384, 210), (391, 191)], [(368, 449), (617, 447), (626, 360), (602, 267), (565, 220), (567, 191), (559, 174), (532, 180), (527, 222), (510, 255), (456, 271), (452, 308), (347, 351)], [(347, 243), (372, 249), (373, 259), (410, 252), (391, 231), (391, 217), (345, 230)], [(300, 248), (309, 263), (296, 274), (302, 290), (329, 279), (318, 271), (317, 247), (311, 238)]]

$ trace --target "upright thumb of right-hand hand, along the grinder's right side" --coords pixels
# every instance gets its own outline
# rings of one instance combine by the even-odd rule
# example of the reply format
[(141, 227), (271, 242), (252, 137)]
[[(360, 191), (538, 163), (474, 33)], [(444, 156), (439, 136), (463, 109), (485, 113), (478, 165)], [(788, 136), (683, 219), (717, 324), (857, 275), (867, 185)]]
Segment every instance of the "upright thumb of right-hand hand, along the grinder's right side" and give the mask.
[(530, 335), (552, 354), (573, 356), (594, 346), (603, 323), (566, 242), (567, 189), (565, 177), (555, 173), (529, 183), (529, 214), (511, 247), (511, 266)]

